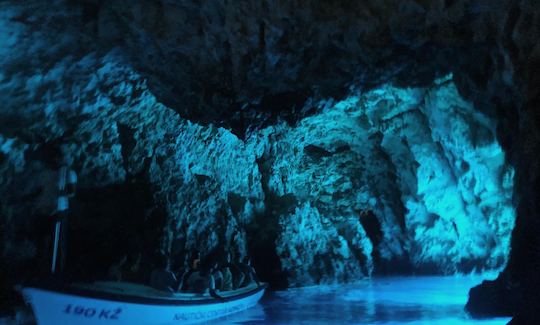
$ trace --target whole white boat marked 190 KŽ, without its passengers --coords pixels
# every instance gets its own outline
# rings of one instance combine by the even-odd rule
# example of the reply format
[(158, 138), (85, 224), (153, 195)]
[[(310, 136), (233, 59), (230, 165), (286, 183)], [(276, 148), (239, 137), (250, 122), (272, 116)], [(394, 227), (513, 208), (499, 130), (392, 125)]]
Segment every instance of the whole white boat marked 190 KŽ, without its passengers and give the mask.
[(28, 286), (23, 296), (39, 325), (48, 324), (193, 324), (255, 306), (267, 285), (251, 284), (209, 294), (167, 293), (127, 282), (69, 286)]

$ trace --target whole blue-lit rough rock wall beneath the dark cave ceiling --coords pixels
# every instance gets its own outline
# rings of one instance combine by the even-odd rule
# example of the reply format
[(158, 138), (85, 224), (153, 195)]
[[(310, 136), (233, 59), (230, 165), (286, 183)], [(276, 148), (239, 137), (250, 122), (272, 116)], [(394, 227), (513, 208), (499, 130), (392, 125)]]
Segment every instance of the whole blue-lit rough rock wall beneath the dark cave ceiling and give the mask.
[[(250, 235), (255, 222), (271, 233), (290, 285), (506, 263), (513, 172), (495, 140), (495, 121), (464, 101), (451, 78), (319, 101), (317, 114), (241, 140), (157, 102), (114, 52), (72, 65), (81, 73), (72, 87), (86, 88), (77, 98), (60, 94), (50, 106), (75, 109), (45, 109), (48, 124), (34, 125), (44, 137), (72, 132), (60, 151), (79, 166), (82, 188), (145, 174), (167, 214), (162, 250), (244, 255), (250, 242), (259, 244)], [(105, 91), (95, 97), (97, 89)], [(21, 152), (32, 150), (4, 140), (9, 183), (22, 168)], [(38, 175), (47, 170), (35, 168)], [(273, 209), (284, 197), (286, 207)]]

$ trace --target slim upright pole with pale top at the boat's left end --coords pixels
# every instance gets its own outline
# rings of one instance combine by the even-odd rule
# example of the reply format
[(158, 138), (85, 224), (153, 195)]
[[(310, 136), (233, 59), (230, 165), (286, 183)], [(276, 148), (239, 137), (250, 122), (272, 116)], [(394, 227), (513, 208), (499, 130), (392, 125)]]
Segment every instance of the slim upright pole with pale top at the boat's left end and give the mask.
[(58, 201), (56, 206), (56, 222), (54, 225), (54, 246), (51, 262), (51, 273), (64, 270), (66, 259), (66, 231), (69, 211), (69, 199), (75, 195), (77, 174), (68, 167), (62, 167), (58, 177)]

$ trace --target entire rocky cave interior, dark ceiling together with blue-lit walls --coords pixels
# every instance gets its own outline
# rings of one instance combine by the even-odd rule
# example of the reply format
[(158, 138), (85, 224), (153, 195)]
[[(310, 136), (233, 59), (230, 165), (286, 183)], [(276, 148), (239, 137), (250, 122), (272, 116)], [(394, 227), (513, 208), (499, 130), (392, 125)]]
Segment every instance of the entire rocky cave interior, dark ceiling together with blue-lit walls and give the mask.
[[(501, 310), (494, 295), (527, 319), (540, 301), (538, 10), (530, 0), (5, 1), (3, 255), (17, 274), (43, 254), (35, 229), (54, 209), (61, 161), (84, 191), (146, 193), (133, 194), (145, 198), (134, 220), (161, 220), (147, 250), (262, 249), (291, 284), (398, 264), (498, 269), (513, 206), (508, 267), (468, 308)], [(449, 73), (455, 86), (441, 79)], [(125, 222), (116, 212), (96, 211)]]

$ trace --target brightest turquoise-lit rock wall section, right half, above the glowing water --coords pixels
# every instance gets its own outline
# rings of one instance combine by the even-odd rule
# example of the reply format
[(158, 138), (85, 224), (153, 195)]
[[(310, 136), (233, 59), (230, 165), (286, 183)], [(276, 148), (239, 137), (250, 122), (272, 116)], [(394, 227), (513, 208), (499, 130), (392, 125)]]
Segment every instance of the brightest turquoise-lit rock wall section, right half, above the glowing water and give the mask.
[[(496, 121), (459, 96), (452, 76), (430, 88), (386, 85), (321, 105), (321, 114), (295, 127), (262, 132), (275, 140), (265, 149), (273, 157), (270, 189), (300, 202), (281, 217), (277, 243), (293, 278), (313, 267), (324, 273), (313, 256), (326, 255), (328, 263), (342, 261), (332, 266), (338, 278), (403, 258), (413, 272), (505, 265), (514, 172), (496, 141)], [(379, 223), (378, 243), (362, 220), (368, 212)], [(358, 256), (363, 269), (347, 262)]]

